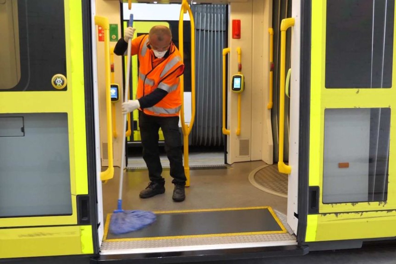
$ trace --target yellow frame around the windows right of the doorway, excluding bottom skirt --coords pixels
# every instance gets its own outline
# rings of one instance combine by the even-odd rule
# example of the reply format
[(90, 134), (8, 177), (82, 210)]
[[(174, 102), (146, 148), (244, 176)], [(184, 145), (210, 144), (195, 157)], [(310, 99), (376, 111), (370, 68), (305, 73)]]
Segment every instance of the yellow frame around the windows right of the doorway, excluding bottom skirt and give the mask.
[[(392, 87), (387, 89), (358, 89), (325, 87), (326, 66), (326, 1), (312, 1), (312, 46), (311, 46), (311, 92), (310, 92), (310, 149), (309, 185), (320, 188), (320, 213), (340, 213), (356, 211), (379, 211), (396, 209), (396, 114), (392, 111), (396, 104), (396, 67), (392, 68)], [(396, 36), (396, 19), (394, 36)], [(393, 40), (393, 65), (396, 62), (396, 45)], [(388, 198), (385, 202), (331, 203), (323, 201), (324, 163), (324, 113), (327, 108), (391, 108), (390, 146), (388, 172)]]

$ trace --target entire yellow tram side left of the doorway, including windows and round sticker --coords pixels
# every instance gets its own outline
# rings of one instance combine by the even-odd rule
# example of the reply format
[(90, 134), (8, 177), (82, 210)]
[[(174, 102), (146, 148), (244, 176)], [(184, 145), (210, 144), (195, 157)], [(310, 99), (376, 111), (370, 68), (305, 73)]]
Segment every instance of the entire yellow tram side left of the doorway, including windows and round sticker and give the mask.
[(0, 4), (0, 258), (94, 253), (83, 8)]

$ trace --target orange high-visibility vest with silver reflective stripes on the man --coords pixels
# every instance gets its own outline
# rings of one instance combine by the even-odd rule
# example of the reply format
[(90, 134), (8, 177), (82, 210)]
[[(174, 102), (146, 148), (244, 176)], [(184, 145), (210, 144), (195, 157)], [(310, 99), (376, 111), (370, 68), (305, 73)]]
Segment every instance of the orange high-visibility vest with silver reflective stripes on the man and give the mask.
[(181, 72), (184, 71), (181, 55), (172, 43), (169, 56), (153, 68), (151, 51), (147, 43), (148, 35), (141, 41), (137, 54), (139, 58), (139, 78), (136, 98), (139, 99), (148, 95), (156, 88), (163, 89), (168, 92), (168, 95), (156, 105), (144, 108), (143, 112), (152, 116), (179, 116), (181, 109), (180, 79), (179, 77), (167, 77), (180, 67), (182, 67)]

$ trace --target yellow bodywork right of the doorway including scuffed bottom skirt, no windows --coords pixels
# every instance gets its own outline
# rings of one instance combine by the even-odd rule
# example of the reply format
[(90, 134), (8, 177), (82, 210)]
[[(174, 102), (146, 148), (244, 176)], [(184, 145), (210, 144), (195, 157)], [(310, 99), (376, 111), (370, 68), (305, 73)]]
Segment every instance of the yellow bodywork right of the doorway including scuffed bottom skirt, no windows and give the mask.
[[(310, 73), (309, 186), (319, 186), (319, 214), (307, 217), (307, 242), (347, 239), (373, 239), (396, 236), (396, 67), (392, 86), (386, 89), (326, 89), (326, 6), (327, 1), (312, 1)], [(393, 36), (396, 36), (394, 20)], [(396, 45), (393, 40), (393, 65)], [(370, 88), (370, 87), (367, 87)], [(323, 203), (325, 110), (329, 108), (391, 108), (388, 189), (386, 201)]]

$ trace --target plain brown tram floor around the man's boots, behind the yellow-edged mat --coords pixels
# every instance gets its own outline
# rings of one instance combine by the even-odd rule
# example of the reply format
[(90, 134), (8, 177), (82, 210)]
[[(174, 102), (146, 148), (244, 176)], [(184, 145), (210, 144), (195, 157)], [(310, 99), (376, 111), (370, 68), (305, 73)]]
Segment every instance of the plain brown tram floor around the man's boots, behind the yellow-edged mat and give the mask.
[[(190, 186), (185, 189), (186, 199), (181, 203), (172, 200), (173, 184), (169, 169), (164, 168), (165, 194), (141, 199), (139, 192), (148, 185), (146, 169), (128, 169), (124, 172), (122, 202), (125, 210), (175, 211), (240, 207), (270, 206), (286, 215), (287, 199), (268, 194), (253, 186), (249, 173), (265, 165), (263, 161), (249, 161), (223, 166), (221, 169), (190, 170)], [(114, 179), (103, 184), (103, 213), (106, 219), (117, 207), (119, 168)]]

